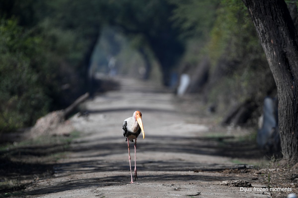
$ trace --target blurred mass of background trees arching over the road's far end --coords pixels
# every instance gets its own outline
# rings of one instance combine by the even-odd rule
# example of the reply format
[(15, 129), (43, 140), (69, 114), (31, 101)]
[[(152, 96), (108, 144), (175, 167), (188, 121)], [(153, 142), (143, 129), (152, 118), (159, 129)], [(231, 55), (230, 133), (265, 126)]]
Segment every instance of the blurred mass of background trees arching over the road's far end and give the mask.
[(0, 131), (65, 108), (95, 74), (172, 89), (188, 74), (226, 124), (256, 125), (277, 93), (241, 0), (1, 0), (0, 21)]

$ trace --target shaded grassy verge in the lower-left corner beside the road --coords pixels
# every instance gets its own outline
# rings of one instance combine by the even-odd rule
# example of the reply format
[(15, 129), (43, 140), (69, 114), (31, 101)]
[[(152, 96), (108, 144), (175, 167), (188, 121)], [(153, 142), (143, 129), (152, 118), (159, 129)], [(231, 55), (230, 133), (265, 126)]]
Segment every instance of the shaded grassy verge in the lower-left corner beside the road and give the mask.
[(53, 166), (65, 158), (80, 132), (45, 136), (0, 147), (0, 197), (24, 196), (23, 189), (40, 178), (52, 177)]

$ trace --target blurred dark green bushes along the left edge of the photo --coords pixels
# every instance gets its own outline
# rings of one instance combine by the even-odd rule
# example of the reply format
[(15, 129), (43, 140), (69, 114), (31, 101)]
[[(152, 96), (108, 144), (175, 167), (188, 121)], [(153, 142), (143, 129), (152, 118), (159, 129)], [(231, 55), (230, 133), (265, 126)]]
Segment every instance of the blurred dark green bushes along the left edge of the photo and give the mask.
[[(47, 19), (24, 28), (15, 18), (2, 18), (0, 38), (0, 131), (31, 126), (76, 98), (80, 77), (71, 64), (77, 65), (83, 53), (72, 31)], [(66, 83), (77, 89), (63, 92)]]

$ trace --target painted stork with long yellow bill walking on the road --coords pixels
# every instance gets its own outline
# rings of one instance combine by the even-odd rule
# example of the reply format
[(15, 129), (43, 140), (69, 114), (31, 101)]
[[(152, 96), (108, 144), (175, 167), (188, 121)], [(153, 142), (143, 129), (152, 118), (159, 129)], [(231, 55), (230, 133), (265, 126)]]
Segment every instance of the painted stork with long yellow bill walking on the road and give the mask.
[[(135, 111), (132, 117), (127, 118), (123, 122), (123, 136), (126, 138), (128, 144), (128, 159), (129, 159), (129, 167), (131, 170), (131, 157), (129, 151), (129, 141), (134, 142), (134, 181), (138, 178), (136, 175), (136, 138), (139, 134), (143, 133), (143, 139), (145, 138), (144, 127), (142, 122), (142, 113), (139, 111)], [(135, 183), (132, 179), (131, 173), (131, 182)]]

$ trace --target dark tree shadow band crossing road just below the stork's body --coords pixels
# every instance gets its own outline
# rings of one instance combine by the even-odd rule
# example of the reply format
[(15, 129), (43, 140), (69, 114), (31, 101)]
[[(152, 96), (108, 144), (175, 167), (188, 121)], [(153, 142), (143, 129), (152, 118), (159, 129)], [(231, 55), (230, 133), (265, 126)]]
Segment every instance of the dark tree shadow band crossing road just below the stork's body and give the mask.
[[(252, 141), (224, 141), (224, 138), (185, 138), (185, 137), (168, 137), (158, 136), (150, 137), (149, 141), (137, 144), (138, 152), (175, 152), (177, 155), (180, 153), (198, 154), (198, 155), (211, 155), (222, 156), (242, 159), (262, 159), (264, 153), (257, 147), (257, 144)], [(123, 139), (123, 138), (121, 138)], [(126, 143), (118, 144), (120, 138), (101, 138), (89, 141), (91, 145), (84, 148), (74, 148), (72, 151), (84, 152), (90, 151), (95, 156), (105, 156), (124, 153)], [(103, 144), (92, 144), (92, 142), (104, 141)], [(106, 141), (105, 141), (106, 140)], [(124, 141), (123, 141), (124, 142)], [(131, 146), (134, 143), (131, 143)], [(74, 146), (75, 147), (75, 146)], [(94, 151), (94, 152), (93, 152)], [(101, 151), (99, 154), (96, 151)], [(92, 157), (92, 155), (88, 155)]]

